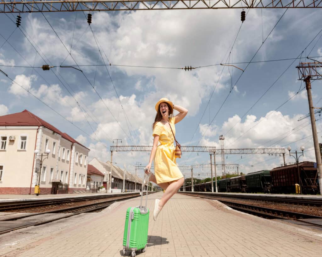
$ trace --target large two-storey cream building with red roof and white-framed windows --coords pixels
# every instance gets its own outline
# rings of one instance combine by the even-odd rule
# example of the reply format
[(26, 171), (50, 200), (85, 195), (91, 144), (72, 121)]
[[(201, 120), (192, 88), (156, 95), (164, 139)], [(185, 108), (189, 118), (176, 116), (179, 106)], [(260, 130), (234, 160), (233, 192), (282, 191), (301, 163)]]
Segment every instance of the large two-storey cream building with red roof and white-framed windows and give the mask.
[(27, 110), (0, 116), (0, 194), (50, 194), (53, 181), (85, 191), (89, 151)]

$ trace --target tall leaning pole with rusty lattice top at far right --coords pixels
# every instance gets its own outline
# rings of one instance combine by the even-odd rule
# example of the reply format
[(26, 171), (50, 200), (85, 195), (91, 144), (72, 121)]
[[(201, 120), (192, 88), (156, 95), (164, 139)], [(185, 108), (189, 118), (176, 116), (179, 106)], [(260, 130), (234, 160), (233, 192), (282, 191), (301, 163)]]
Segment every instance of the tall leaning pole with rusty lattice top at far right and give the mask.
[(311, 80), (322, 80), (322, 75), (318, 72), (322, 68), (322, 63), (311, 62), (311, 63), (300, 63), (298, 66), (298, 77), (299, 80), (304, 80), (306, 85), (306, 90), (308, 92), (308, 107), (311, 117), (312, 126), (312, 136), (314, 142), (315, 158), (317, 162), (317, 176), (320, 185), (320, 194), (322, 195), (322, 163), (321, 163), (321, 153), (319, 142), (317, 138), (317, 125), (315, 123), (314, 107), (312, 102), (312, 92), (311, 92)]

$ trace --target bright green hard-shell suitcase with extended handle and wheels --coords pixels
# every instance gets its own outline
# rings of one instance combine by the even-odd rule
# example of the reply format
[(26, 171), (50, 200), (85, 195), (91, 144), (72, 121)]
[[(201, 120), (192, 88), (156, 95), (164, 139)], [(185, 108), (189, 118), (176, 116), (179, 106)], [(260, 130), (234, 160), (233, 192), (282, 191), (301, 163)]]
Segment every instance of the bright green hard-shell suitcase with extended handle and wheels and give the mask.
[[(148, 184), (149, 180), (147, 178), (147, 185)], [(145, 206), (142, 206), (142, 199), (143, 188), (141, 192), (140, 206), (129, 207), (126, 211), (123, 236), (123, 254), (129, 250), (131, 251), (132, 257), (136, 255), (135, 251), (141, 250), (141, 252), (144, 253), (147, 247), (147, 231), (149, 227), (150, 211), (147, 208), (147, 196)]]

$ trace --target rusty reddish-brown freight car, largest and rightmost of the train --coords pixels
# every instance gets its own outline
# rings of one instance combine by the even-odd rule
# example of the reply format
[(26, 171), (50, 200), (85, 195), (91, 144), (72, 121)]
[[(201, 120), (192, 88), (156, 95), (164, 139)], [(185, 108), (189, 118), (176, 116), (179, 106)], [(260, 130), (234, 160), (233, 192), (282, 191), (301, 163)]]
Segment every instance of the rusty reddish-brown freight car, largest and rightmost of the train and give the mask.
[(318, 189), (317, 168), (313, 162), (301, 162), (274, 168), (270, 171), (272, 193), (295, 193), (299, 184), (301, 193), (316, 194)]

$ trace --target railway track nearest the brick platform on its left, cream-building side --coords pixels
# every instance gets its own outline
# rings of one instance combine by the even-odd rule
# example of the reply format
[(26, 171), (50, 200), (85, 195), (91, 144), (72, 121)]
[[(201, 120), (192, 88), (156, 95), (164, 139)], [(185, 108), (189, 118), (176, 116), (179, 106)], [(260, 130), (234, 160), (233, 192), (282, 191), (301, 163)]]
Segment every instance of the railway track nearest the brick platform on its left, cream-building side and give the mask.
[[(150, 192), (149, 194), (151, 194), (151, 193), (154, 193), (154, 192)], [(29, 226), (43, 225), (43, 224), (57, 221), (60, 219), (79, 215), (81, 213), (99, 211), (101, 209), (109, 207), (111, 204), (113, 204), (115, 202), (138, 197), (139, 193), (127, 195), (125, 197), (124, 197), (124, 195), (123, 195), (123, 197), (120, 197), (120, 196), (115, 197), (115, 196), (116, 195), (113, 195), (113, 197), (109, 197), (108, 200), (102, 201), (99, 203), (91, 203), (91, 204), (85, 204), (85, 205), (80, 205), (80, 206), (74, 206), (74, 207), (70, 207), (70, 208), (56, 209), (56, 210), (45, 211), (45, 212), (40, 212), (40, 213), (31, 213), (31, 214), (24, 214), (24, 215), (19, 215), (19, 216), (14, 216), (14, 217), (2, 218), (2, 219), (0, 219), (0, 235), (14, 231), (14, 230), (26, 228)], [(56, 202), (56, 204), (57, 204), (57, 202)], [(35, 205), (33, 207), (37, 207), (37, 206)], [(11, 206), (9, 208), (11, 208)], [(46, 214), (52, 214), (52, 213), (64, 213), (66, 215), (62, 215), (60, 217), (54, 217), (54, 218), (46, 217)], [(28, 219), (29, 217), (37, 217), (38, 220), (33, 220), (33, 219), (30, 220), (30, 219)], [(45, 217), (47, 219), (39, 221), (39, 219), (42, 219), (43, 217)]]

